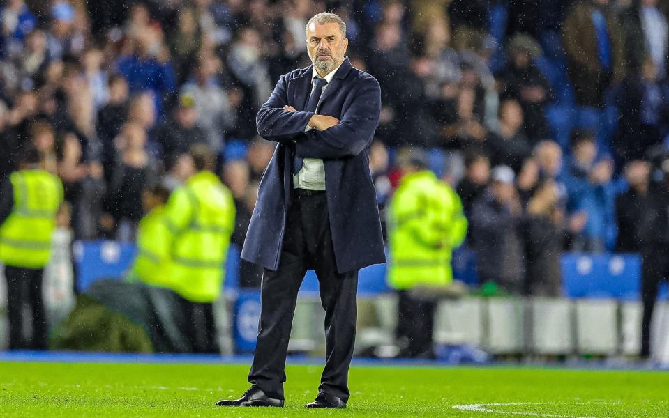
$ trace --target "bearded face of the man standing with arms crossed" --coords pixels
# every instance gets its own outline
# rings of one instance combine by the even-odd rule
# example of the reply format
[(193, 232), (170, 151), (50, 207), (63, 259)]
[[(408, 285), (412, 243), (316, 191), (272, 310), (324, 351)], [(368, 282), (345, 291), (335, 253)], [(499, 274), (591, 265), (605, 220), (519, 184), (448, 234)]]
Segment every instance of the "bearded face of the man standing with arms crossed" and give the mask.
[(343, 38), (338, 23), (313, 22), (306, 34), (309, 58), (317, 70), (328, 73), (343, 61), (348, 40)]

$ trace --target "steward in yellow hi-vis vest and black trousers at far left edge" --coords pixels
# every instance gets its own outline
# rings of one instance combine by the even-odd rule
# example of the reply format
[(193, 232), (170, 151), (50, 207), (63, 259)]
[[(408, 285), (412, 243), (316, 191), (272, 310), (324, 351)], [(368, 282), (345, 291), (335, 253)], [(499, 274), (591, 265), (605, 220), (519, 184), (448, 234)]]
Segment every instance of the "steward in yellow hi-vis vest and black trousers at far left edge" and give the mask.
[[(7, 280), (10, 350), (47, 348), (42, 282), (63, 203), (63, 184), (57, 176), (40, 169), (39, 164), (36, 148), (25, 146), (19, 171), (0, 179), (0, 263), (5, 266)], [(32, 314), (26, 339), (24, 305)]]

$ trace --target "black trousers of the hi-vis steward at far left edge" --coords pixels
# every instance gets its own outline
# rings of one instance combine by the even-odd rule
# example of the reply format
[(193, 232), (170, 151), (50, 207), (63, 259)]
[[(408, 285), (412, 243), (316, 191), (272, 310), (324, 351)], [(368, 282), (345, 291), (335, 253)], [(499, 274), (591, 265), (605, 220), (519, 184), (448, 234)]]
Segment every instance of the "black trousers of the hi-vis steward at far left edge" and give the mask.
[[(47, 318), (42, 295), (44, 269), (5, 266), (10, 350), (46, 350)], [(24, 306), (31, 313), (29, 335), (24, 338)]]

